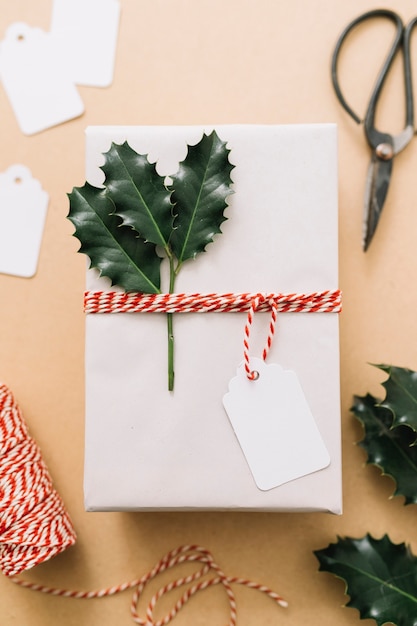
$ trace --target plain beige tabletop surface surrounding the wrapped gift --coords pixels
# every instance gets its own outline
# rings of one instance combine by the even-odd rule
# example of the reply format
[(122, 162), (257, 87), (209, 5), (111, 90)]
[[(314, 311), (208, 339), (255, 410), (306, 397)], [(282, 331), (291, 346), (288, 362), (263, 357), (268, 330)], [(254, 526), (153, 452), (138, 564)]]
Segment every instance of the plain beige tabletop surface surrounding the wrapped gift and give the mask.
[[(417, 143), (396, 159), (376, 239), (365, 255), (361, 222), (369, 152), (362, 129), (342, 111), (330, 82), (339, 32), (375, 5), (370, 0), (121, 0), (121, 5), (114, 83), (106, 89), (80, 88), (86, 106), (81, 118), (25, 137), (0, 89), (0, 171), (24, 163), (50, 194), (37, 275), (0, 276), (0, 378), (16, 395), (78, 533), (75, 547), (26, 578), (76, 589), (108, 586), (142, 575), (172, 548), (199, 543), (228, 574), (263, 582), (290, 604), (280, 609), (261, 594), (237, 588), (240, 626), (357, 624), (358, 613), (341, 608), (343, 583), (317, 573), (312, 551), (337, 535), (361, 537), (369, 531), (409, 542), (417, 553), (415, 507), (405, 508), (402, 498), (389, 500), (394, 483), (365, 467), (365, 454), (355, 446), (361, 428), (349, 411), (353, 394), (383, 392), (383, 376), (369, 363), (417, 369)], [(1, 0), (0, 8), (2, 38), (13, 21), (49, 29), (52, 0)], [(409, 20), (415, 3), (396, 0), (395, 8)], [(358, 110), (364, 110), (390, 37), (385, 25), (362, 29), (342, 59), (343, 86)], [(400, 70), (397, 63), (378, 115), (386, 130), (403, 124)], [(84, 129), (88, 124), (206, 122), (339, 126), (341, 517), (83, 510), (85, 259), (76, 253), (65, 216), (66, 193), (84, 182)], [(17, 588), (2, 576), (0, 598), (2, 626), (132, 623), (129, 593), (93, 601), (53, 598)], [(225, 624), (227, 616), (223, 591), (216, 588), (194, 599), (175, 623)]]

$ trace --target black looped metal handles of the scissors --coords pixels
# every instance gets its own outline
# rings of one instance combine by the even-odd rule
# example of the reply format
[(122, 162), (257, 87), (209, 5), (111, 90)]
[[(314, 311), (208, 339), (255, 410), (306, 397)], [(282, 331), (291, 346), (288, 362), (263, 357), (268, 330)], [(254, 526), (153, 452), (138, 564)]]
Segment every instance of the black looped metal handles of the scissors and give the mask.
[[(346, 37), (348, 36), (348, 34), (361, 22), (364, 22), (365, 20), (368, 20), (368, 19), (372, 19), (374, 17), (386, 17), (390, 19), (391, 21), (393, 21), (396, 25), (396, 34), (395, 34), (395, 39), (393, 41), (393, 44), (382, 66), (382, 69), (377, 77), (374, 90), (371, 94), (369, 106), (368, 106), (366, 116), (365, 116), (365, 126), (366, 126), (367, 133), (369, 132), (372, 133), (372, 131), (375, 130), (374, 119), (375, 119), (376, 103), (378, 101), (379, 94), (381, 92), (385, 79), (388, 75), (391, 64), (403, 40), (404, 25), (400, 16), (394, 11), (390, 11), (389, 9), (375, 9), (373, 11), (368, 11), (366, 13), (363, 13), (363, 15), (360, 15), (359, 17), (354, 19), (352, 22), (350, 22), (350, 24), (346, 26), (346, 28), (343, 30), (343, 32), (339, 36), (339, 39), (336, 42), (336, 46), (335, 46), (333, 56), (332, 56), (332, 67), (331, 67), (333, 87), (334, 87), (334, 90), (336, 92), (336, 95), (340, 104), (347, 111), (347, 113), (349, 113), (349, 115), (355, 120), (355, 122), (357, 122), (358, 124), (361, 124), (362, 123), (361, 118), (349, 106), (349, 104), (347, 103), (340, 89), (339, 80), (337, 78), (337, 64), (339, 60), (339, 53), (340, 53), (341, 47)], [(409, 34), (408, 34), (408, 45), (409, 45)], [(404, 58), (407, 56), (409, 55), (405, 53)], [(406, 73), (405, 66), (404, 66), (404, 70)], [(408, 63), (408, 76), (407, 75), (405, 76), (405, 81), (406, 81), (405, 87), (406, 87), (406, 107), (407, 107), (407, 123), (408, 123), (409, 118), (411, 119), (413, 118), (413, 104), (412, 104), (412, 95), (411, 95), (411, 72), (410, 72), (409, 63)]]

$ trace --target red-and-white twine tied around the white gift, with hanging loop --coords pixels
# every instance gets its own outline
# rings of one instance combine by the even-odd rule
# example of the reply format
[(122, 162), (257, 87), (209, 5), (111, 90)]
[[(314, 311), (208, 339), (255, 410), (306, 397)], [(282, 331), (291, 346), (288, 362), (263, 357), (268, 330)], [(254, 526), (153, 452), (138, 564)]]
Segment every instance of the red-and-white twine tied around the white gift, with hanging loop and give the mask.
[(124, 293), (86, 291), (85, 313), (242, 313), (247, 312), (243, 339), (246, 376), (256, 380), (258, 373), (250, 367), (249, 336), (255, 311), (270, 311), (268, 337), (262, 358), (265, 361), (272, 346), (277, 314), (340, 313), (342, 295), (339, 289), (312, 293)]

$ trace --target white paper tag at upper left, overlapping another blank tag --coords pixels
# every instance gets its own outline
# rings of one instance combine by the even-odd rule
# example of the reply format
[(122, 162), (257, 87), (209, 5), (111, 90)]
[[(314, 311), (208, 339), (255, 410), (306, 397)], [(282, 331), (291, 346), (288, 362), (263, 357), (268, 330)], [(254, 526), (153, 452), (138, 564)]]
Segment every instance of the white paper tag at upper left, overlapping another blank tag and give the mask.
[(84, 111), (65, 61), (49, 33), (9, 26), (0, 47), (0, 77), (23, 133), (61, 124)]

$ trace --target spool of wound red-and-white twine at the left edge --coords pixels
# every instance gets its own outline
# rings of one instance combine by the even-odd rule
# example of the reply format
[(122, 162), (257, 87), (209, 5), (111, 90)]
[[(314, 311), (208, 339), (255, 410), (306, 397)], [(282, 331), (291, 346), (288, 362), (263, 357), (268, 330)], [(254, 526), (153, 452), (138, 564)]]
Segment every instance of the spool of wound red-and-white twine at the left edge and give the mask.
[(0, 383), (0, 568), (15, 576), (75, 539), (41, 452), (11, 391)]

